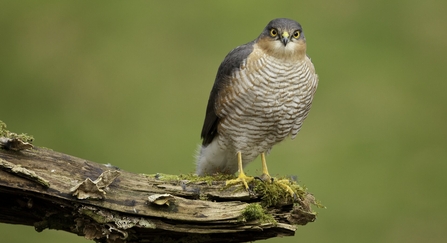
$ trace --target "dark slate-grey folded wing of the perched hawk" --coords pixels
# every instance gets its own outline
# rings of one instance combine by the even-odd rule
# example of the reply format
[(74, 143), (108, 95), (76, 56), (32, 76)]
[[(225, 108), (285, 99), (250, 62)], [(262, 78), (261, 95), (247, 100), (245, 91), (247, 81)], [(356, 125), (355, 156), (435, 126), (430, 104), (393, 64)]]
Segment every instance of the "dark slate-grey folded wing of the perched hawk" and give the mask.
[(208, 99), (208, 105), (206, 107), (205, 122), (203, 123), (201, 137), (203, 139), (202, 144), (207, 146), (210, 144), (214, 137), (217, 135), (217, 126), (219, 117), (216, 114), (216, 99), (221, 95), (220, 93), (225, 90), (223, 87), (228, 84), (229, 77), (232, 73), (238, 69), (244, 60), (252, 53), (254, 41), (241, 45), (233, 49), (219, 66), (217, 71), (216, 80), (214, 81), (213, 88)]

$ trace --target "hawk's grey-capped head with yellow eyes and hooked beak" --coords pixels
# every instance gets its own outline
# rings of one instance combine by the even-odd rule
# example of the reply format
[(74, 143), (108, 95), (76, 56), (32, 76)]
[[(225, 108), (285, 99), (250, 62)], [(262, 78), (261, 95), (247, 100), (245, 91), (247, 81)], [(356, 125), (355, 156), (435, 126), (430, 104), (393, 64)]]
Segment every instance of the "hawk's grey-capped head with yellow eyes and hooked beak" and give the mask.
[(291, 19), (270, 21), (256, 43), (263, 51), (276, 58), (301, 60), (306, 56), (303, 29)]

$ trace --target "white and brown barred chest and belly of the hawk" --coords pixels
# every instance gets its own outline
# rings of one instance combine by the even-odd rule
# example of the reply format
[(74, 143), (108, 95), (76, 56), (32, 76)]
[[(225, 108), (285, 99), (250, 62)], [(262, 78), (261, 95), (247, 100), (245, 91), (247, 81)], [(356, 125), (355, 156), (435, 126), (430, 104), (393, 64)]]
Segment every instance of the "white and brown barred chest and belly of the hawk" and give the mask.
[(307, 57), (284, 62), (259, 55), (247, 60), (219, 93), (216, 113), (221, 118), (219, 144), (251, 160), (287, 136), (297, 135), (318, 77)]

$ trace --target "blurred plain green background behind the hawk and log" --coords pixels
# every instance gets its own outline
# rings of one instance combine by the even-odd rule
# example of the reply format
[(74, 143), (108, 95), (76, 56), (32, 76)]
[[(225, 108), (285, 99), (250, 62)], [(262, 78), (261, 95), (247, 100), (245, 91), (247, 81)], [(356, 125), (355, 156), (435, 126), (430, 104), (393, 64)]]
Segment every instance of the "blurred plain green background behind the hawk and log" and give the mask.
[[(327, 206), (267, 242), (445, 242), (447, 2), (1, 1), (0, 120), (35, 144), (136, 173), (194, 171), (224, 56), (299, 21), (320, 76), (267, 158)], [(248, 166), (260, 173), (259, 159)], [(87, 242), (0, 225), (2, 242)]]

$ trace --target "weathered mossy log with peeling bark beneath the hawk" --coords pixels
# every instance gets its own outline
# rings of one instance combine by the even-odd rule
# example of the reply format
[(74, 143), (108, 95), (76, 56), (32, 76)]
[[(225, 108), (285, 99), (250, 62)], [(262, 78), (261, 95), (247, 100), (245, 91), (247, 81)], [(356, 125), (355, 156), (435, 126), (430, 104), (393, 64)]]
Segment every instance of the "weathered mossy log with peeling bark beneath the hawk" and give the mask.
[(39, 232), (97, 242), (246, 242), (293, 236), (316, 218), (314, 198), (293, 181), (295, 198), (275, 183), (225, 188), (225, 176), (134, 174), (11, 144), (0, 141), (0, 222)]

